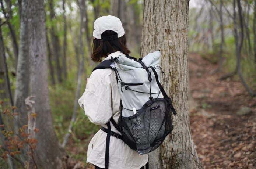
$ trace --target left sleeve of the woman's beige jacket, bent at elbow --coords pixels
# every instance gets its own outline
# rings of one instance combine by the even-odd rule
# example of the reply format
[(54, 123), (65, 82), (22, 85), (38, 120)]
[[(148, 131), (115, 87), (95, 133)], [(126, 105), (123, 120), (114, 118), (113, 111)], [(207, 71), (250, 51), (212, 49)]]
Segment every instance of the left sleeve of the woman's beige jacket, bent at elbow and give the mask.
[(85, 91), (78, 100), (89, 120), (97, 125), (105, 125), (112, 116), (111, 80), (98, 70), (87, 79)]

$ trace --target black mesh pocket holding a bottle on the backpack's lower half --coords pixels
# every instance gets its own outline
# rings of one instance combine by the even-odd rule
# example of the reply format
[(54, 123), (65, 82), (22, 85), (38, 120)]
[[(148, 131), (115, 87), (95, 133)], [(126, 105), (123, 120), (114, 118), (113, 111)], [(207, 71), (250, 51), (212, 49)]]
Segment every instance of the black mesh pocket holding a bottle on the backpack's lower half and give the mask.
[(139, 154), (155, 150), (172, 131), (171, 103), (165, 98), (147, 101), (136, 114), (121, 115), (123, 141)]

